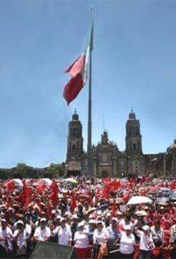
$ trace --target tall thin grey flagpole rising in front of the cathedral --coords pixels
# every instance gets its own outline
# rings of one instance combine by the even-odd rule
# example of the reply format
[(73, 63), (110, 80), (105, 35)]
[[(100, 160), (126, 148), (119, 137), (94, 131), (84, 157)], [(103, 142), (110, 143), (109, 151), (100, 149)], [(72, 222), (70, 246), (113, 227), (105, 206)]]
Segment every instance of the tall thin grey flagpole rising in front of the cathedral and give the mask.
[[(93, 12), (94, 12), (94, 9), (91, 8), (91, 22), (93, 21)], [(92, 167), (92, 49), (93, 49), (93, 44), (92, 43), (93, 42), (91, 42), (90, 54), (89, 54), (89, 101), (88, 101), (88, 134), (87, 134), (87, 167), (88, 167), (89, 177), (92, 177), (92, 169), (93, 169)]]

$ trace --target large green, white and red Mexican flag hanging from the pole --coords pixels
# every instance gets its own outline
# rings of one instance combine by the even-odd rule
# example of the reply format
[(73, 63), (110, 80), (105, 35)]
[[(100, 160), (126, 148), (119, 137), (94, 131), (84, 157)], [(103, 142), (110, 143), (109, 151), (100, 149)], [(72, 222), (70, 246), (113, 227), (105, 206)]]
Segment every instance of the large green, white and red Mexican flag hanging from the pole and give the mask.
[(89, 56), (93, 49), (93, 20), (89, 28), (89, 35), (87, 38), (84, 52), (76, 59), (76, 61), (66, 69), (65, 73), (69, 73), (72, 77), (63, 91), (63, 97), (66, 102), (70, 104), (80, 90), (85, 85), (89, 75)]

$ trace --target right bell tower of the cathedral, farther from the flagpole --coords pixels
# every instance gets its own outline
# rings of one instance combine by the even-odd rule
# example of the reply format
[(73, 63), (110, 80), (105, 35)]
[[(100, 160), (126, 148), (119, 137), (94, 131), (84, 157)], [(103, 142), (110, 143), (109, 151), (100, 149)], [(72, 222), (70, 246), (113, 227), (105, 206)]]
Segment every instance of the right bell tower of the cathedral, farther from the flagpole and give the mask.
[(125, 141), (127, 154), (142, 154), (142, 135), (140, 133), (140, 123), (139, 120), (136, 119), (136, 114), (132, 109), (126, 123)]

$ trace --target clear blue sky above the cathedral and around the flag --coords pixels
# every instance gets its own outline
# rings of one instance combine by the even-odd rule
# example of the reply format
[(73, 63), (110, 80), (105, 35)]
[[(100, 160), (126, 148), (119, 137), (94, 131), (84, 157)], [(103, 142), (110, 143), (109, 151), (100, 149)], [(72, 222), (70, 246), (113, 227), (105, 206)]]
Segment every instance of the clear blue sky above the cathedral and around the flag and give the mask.
[(80, 55), (95, 8), (92, 135), (125, 149), (131, 107), (144, 153), (176, 136), (175, 1), (0, 1), (0, 167), (65, 160), (74, 109), (87, 146), (87, 85), (67, 106), (64, 69)]

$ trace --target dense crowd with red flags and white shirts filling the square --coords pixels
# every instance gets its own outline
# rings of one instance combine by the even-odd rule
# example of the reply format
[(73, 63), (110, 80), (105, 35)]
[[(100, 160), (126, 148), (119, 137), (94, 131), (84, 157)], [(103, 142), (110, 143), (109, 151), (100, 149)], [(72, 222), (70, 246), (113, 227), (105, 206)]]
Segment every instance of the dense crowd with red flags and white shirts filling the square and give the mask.
[(0, 258), (54, 242), (74, 246), (77, 259), (175, 259), (174, 191), (175, 179), (151, 175), (0, 180)]

